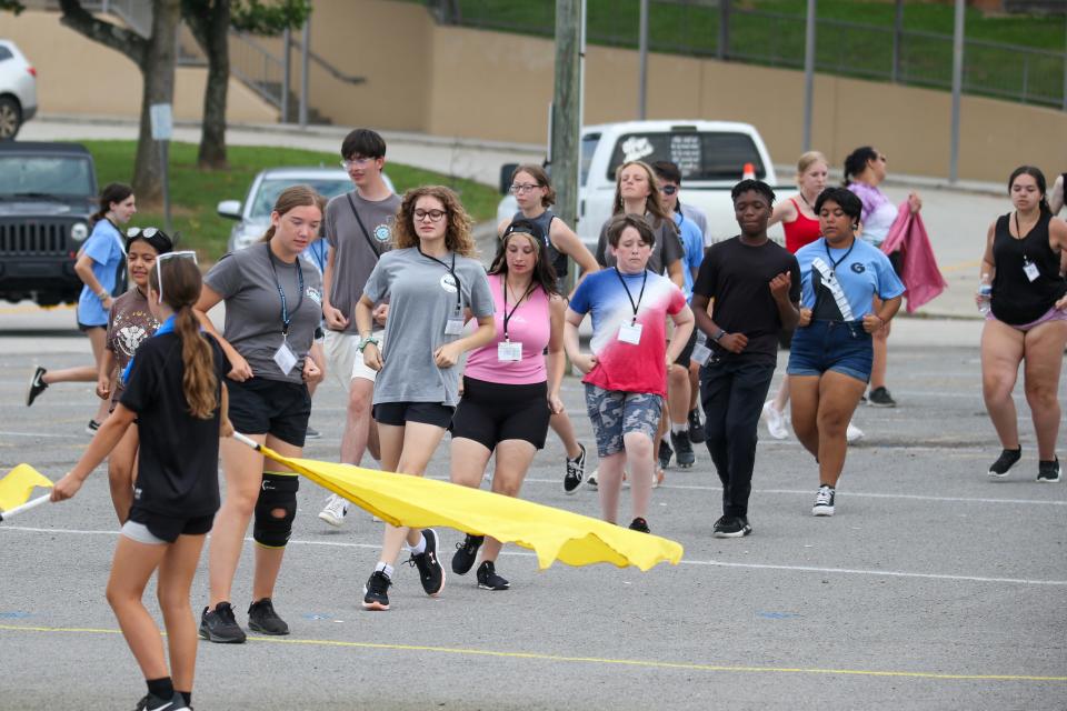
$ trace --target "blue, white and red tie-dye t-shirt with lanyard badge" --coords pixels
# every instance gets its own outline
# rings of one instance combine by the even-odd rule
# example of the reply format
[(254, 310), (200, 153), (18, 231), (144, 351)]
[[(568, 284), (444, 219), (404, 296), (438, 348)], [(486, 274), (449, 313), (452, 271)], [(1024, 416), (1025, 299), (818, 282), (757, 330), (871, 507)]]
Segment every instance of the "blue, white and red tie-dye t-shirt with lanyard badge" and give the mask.
[[(632, 303), (638, 303), (637, 323), (641, 326), (637, 344), (619, 340), (619, 329), (634, 321)], [(582, 382), (605, 390), (667, 397), (667, 316), (685, 307), (681, 290), (650, 271), (624, 274), (611, 268), (586, 277), (570, 300), (575, 313), (592, 313), (590, 347), (597, 364)]]

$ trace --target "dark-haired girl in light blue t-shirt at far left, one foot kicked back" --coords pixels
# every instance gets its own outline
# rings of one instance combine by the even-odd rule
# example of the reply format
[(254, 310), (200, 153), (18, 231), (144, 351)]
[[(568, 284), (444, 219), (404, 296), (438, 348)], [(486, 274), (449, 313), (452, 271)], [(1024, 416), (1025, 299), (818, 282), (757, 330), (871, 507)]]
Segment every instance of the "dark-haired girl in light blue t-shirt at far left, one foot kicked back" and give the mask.
[[(126, 224), (137, 212), (133, 189), (113, 182), (100, 193), (100, 209), (92, 216), (92, 232), (78, 250), (74, 272), (84, 283), (78, 299), (78, 328), (89, 337), (93, 365), (49, 371), (38, 367), (30, 379), (26, 395), (27, 407), (57, 382), (97, 382), (103, 362), (107, 340), (108, 311), (114, 294), (126, 290), (126, 251), (120, 224)], [(107, 398), (100, 401), (97, 413), (86, 431), (92, 435), (108, 414)]]

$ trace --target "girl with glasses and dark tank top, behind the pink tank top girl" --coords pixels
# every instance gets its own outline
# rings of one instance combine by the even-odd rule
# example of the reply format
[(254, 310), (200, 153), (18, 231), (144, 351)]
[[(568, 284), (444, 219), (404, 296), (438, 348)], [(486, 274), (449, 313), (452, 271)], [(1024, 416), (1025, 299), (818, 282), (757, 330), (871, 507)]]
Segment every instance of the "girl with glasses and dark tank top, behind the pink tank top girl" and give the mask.
[[(575, 231), (552, 212), (556, 203), (556, 191), (548, 180), (548, 173), (540, 166), (527, 163), (519, 166), (511, 173), (511, 194), (519, 206), (519, 210), (510, 220), (502, 221), (497, 228), (497, 234), (502, 237), (508, 226), (515, 220), (530, 220), (541, 233), (544, 246), (542, 259), (556, 272), (556, 292), (567, 293), (566, 279), (568, 270), (567, 259), (574, 259), (578, 266), (579, 277), (575, 287), (581, 283), (586, 276), (600, 269), (596, 258), (586, 249)], [(552, 413), (551, 427), (564, 444), (567, 455), (567, 470), (564, 474), (564, 491), (574, 493), (586, 475), (586, 448), (575, 435), (575, 425), (566, 411)]]

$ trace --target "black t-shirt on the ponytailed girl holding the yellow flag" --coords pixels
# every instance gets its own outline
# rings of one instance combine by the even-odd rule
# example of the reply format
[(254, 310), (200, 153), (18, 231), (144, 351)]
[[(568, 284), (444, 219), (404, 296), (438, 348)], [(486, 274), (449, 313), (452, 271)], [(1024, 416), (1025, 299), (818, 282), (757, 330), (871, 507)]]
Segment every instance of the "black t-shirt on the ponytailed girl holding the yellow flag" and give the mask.
[[(230, 362), (218, 341), (205, 336), (221, 384)], [(185, 370), (177, 333), (150, 338), (137, 349), (119, 400), (137, 413), (141, 440), (133, 505), (174, 518), (209, 515), (219, 509), (219, 408), (209, 420), (189, 413), (181, 385)]]

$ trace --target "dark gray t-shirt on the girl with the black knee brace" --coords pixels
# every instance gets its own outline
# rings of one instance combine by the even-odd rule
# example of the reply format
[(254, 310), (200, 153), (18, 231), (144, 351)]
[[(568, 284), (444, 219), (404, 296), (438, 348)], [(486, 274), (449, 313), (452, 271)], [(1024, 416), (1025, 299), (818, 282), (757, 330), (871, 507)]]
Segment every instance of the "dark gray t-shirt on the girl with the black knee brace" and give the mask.
[[(303, 274), (303, 299), (298, 267)], [(322, 318), (322, 278), (318, 270), (299, 258), (296, 267), (287, 264), (275, 257), (270, 244), (257, 243), (225, 254), (203, 281), (226, 300), (222, 338), (248, 361), (252, 374), (267, 380), (303, 382), (303, 359)], [(297, 364), (288, 375), (275, 362), (275, 353), (282, 342), (279, 286), (286, 292), (289, 311), (289, 348), (297, 357)]]

